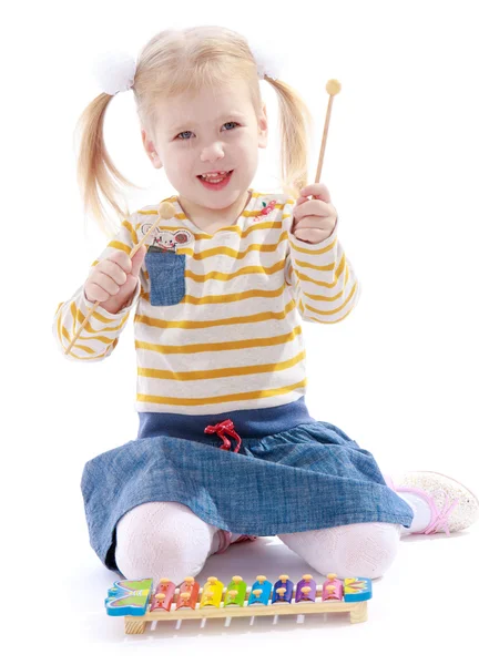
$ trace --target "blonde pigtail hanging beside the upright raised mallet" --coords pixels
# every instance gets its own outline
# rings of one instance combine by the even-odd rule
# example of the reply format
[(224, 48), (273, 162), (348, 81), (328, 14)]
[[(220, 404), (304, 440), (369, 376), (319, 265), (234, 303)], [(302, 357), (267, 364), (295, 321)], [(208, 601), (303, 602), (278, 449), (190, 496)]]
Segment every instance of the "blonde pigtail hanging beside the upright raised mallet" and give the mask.
[(281, 178), (283, 191), (293, 198), (308, 183), (308, 143), (313, 116), (304, 100), (287, 83), (265, 80), (275, 89), (279, 105)]

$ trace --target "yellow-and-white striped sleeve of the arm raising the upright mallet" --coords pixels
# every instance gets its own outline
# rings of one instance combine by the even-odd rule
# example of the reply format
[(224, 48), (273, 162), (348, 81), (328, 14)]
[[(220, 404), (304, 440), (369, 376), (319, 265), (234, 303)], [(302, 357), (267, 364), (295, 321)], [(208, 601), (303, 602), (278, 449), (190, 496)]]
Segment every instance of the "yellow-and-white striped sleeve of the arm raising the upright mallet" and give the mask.
[(337, 324), (356, 306), (360, 284), (338, 241), (337, 227), (320, 243), (306, 243), (288, 231), (285, 278), (305, 321)]

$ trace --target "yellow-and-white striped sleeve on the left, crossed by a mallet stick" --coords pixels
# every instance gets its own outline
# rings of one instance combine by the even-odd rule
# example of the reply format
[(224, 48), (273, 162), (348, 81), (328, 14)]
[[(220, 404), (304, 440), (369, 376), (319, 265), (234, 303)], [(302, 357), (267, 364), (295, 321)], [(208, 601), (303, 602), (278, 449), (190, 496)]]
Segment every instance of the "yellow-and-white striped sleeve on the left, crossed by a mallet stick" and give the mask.
[[(118, 249), (130, 255), (133, 246), (137, 244), (134, 219), (135, 216), (131, 215), (128, 219), (122, 222), (119, 233), (106, 245), (96, 260), (92, 263), (90, 269)], [(65, 354), (78, 328), (94, 305), (94, 303), (86, 300), (83, 287), (84, 285), (82, 285), (69, 300), (60, 303), (54, 315), (52, 331), (59, 348), (63, 354)], [(134, 291), (130, 304), (116, 314), (111, 314), (99, 305), (67, 357), (71, 360), (88, 360), (94, 362), (110, 356), (118, 345), (120, 334), (126, 326), (130, 311), (136, 305), (136, 300), (140, 297), (140, 290), (141, 286), (139, 280), (136, 290)]]

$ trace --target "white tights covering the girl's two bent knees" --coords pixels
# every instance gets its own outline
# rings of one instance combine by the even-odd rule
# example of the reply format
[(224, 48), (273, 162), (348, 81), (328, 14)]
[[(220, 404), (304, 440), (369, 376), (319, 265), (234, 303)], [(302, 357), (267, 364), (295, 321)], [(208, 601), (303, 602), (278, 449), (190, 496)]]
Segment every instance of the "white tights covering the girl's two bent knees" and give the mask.
[[(393, 563), (402, 529), (366, 522), (277, 534), (322, 575), (379, 577)], [(237, 536), (237, 534), (236, 534)], [(232, 538), (232, 541), (235, 539)], [(196, 576), (220, 545), (218, 529), (174, 501), (142, 503), (116, 525), (116, 565), (126, 580)]]

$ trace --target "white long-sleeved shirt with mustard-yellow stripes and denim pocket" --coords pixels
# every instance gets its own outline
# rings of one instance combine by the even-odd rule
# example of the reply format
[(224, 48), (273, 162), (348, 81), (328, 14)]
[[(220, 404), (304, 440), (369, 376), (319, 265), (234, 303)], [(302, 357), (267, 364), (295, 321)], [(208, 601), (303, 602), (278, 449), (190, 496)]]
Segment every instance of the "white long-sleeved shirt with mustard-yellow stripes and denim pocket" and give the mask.
[[(129, 306), (99, 306), (69, 358), (103, 360), (134, 313), (136, 410), (210, 415), (287, 405), (306, 392), (300, 321), (334, 324), (359, 297), (353, 267), (333, 234), (317, 244), (292, 233), (295, 201), (252, 196), (233, 226), (210, 235), (176, 214), (149, 236), (149, 252)], [(130, 254), (157, 219), (157, 205), (122, 222), (92, 264)], [(58, 306), (53, 332), (67, 349), (92, 303), (83, 286)]]

